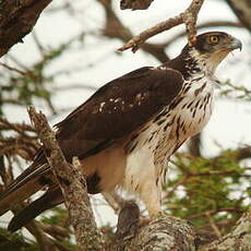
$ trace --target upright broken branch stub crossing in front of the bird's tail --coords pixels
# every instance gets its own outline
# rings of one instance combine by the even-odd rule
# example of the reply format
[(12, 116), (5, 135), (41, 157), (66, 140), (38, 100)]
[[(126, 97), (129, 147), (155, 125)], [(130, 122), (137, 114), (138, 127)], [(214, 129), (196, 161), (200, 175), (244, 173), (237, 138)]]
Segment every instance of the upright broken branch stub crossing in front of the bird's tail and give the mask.
[(74, 160), (73, 166), (65, 162), (45, 115), (36, 112), (33, 107), (28, 109), (28, 113), (62, 190), (79, 247), (85, 248), (84, 250), (101, 250), (101, 237), (94, 220), (86, 181), (80, 170), (79, 160)]

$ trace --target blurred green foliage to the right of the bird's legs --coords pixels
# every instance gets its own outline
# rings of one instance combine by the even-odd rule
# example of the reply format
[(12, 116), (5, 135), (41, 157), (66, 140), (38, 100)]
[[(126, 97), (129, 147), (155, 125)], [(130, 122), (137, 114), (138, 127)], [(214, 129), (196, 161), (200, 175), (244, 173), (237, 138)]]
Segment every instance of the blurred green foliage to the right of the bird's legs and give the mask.
[(210, 229), (214, 224), (220, 235), (228, 232), (250, 203), (251, 191), (244, 186), (250, 168), (240, 165), (237, 153), (223, 151), (214, 158), (177, 154), (176, 176), (166, 186), (167, 212), (196, 228)]

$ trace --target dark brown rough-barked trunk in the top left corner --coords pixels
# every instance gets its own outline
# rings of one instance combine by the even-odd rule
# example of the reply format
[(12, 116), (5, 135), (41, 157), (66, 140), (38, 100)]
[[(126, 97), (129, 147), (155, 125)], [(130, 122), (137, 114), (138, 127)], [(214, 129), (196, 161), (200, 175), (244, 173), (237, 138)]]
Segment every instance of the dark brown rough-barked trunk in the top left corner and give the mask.
[(2, 0), (0, 2), (0, 57), (22, 41), (52, 0)]

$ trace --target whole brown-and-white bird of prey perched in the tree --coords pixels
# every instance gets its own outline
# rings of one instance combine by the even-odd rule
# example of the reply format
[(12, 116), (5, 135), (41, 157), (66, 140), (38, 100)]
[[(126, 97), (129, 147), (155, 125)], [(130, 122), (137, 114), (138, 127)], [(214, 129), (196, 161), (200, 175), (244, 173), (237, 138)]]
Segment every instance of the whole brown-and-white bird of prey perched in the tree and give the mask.
[[(150, 217), (156, 217), (168, 159), (210, 120), (218, 83), (215, 69), (237, 48), (240, 40), (226, 33), (201, 34), (177, 58), (105, 84), (57, 123), (58, 143), (69, 163), (79, 157), (88, 193), (122, 187), (139, 194)], [(12, 218), (10, 230), (63, 202), (41, 146), (33, 164), (0, 195), (0, 215), (45, 188), (44, 195)]]

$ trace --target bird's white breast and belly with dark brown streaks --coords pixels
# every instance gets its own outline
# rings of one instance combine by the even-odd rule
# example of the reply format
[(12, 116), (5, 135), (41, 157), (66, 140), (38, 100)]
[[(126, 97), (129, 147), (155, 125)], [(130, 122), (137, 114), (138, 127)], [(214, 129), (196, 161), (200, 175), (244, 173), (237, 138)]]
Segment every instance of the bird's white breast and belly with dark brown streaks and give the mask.
[[(182, 96), (182, 95), (181, 95)], [(179, 97), (180, 98), (180, 97)], [(199, 133), (212, 113), (212, 83), (196, 83), (183, 94), (175, 108), (171, 105), (148, 122), (147, 130), (129, 143), (124, 187), (141, 194), (145, 183), (163, 180), (169, 156), (190, 136)], [(136, 144), (135, 144), (136, 142)]]

